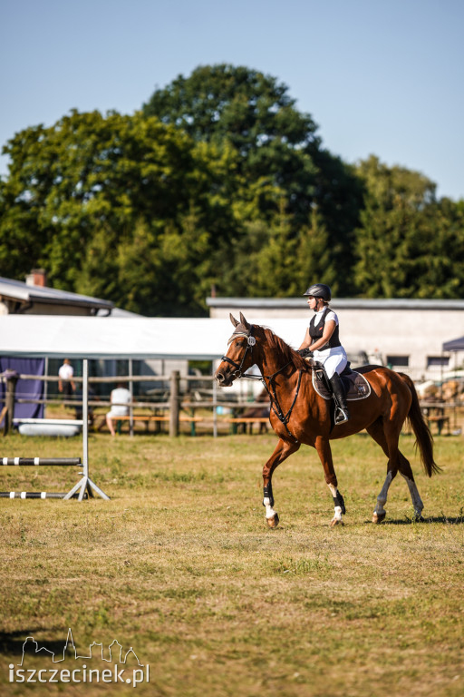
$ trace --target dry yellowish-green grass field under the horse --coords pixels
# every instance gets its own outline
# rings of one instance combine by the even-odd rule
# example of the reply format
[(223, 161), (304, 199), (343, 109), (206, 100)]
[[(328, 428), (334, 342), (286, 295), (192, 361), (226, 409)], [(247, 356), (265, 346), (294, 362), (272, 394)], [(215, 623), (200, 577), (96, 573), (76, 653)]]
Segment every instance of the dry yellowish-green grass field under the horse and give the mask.
[[(335, 442), (347, 515), (334, 529), (307, 447), (276, 471), (281, 524), (266, 528), (260, 475), (274, 445), (272, 435), (92, 436), (90, 475), (111, 501), (0, 499), (2, 694), (461, 697), (462, 438), (436, 438), (443, 472), (429, 479), (413, 439), (401, 437), (426, 522), (411, 521), (399, 476), (382, 525), (371, 523), (386, 472), (380, 448), (364, 435)], [(10, 436), (2, 456), (79, 456), (81, 447)], [(2, 490), (77, 481), (59, 467), (0, 476)], [(8, 682), (27, 636), (63, 653), (68, 628), (78, 653), (114, 639), (132, 646), (150, 682)], [(43, 653), (24, 659), (29, 670), (50, 664)]]

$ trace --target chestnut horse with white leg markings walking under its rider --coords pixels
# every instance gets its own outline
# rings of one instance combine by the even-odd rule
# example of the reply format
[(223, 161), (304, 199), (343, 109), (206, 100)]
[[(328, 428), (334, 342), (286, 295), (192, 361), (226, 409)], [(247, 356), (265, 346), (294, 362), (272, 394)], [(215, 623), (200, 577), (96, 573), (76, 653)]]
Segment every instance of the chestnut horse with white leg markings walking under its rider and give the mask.
[(228, 340), (227, 355), (215, 377), (222, 387), (230, 387), (241, 378), (247, 368), (255, 365), (261, 371), (263, 383), (271, 398), (271, 426), (279, 437), (274, 453), (263, 467), (266, 520), (269, 527), (279, 522), (274, 510), (272, 476), (275, 467), (304, 443), (316, 449), (324, 467), (325, 482), (333, 496), (334, 515), (331, 525), (343, 524), (345, 506), (338, 490), (333, 468), (330, 441), (345, 438), (366, 429), (388, 457), (387, 476), (377, 496), (372, 522), (381, 523), (385, 517), (385, 503), (391, 481), (400, 471), (409, 487), (415, 518), (421, 519), (423, 504), (414, 482), (411, 465), (399, 450), (401, 427), (406, 418), (411, 423), (419, 447), (420, 459), (427, 475), (440, 467), (433, 459), (433, 438), (420, 411), (414, 384), (407, 375), (381, 366), (357, 368), (371, 385), (371, 394), (350, 405), (351, 418), (333, 427), (330, 414), (332, 400), (326, 400), (315, 391), (312, 370), (308, 361), (271, 329), (248, 324), (240, 312), (240, 321), (230, 315), (235, 331)]

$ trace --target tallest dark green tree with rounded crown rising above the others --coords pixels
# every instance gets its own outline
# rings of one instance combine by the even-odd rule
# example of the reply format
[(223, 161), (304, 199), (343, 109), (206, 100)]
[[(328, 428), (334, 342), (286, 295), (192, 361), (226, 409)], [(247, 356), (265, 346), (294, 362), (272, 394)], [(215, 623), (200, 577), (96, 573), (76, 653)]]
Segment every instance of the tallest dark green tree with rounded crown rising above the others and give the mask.
[[(227, 177), (231, 195), (249, 201), (250, 190), (260, 191), (253, 218), (243, 219), (245, 227), (258, 220), (273, 225), (284, 196), (296, 240), (317, 205), (327, 230), (330, 263), (341, 271), (340, 291), (349, 290), (346, 270), (353, 265), (362, 186), (353, 168), (321, 148), (312, 117), (296, 109), (285, 84), (243, 66), (204, 65), (156, 90), (142, 108), (197, 142), (218, 148), (227, 142), (234, 148), (236, 168)], [(287, 293), (285, 285), (280, 293)]]

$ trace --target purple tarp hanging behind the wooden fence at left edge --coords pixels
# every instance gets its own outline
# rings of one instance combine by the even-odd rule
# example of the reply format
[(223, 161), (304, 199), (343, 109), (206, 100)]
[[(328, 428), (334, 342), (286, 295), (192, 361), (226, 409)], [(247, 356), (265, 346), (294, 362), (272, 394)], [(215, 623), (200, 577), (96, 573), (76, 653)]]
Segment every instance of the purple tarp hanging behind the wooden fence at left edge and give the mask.
[[(43, 375), (44, 358), (0, 358), (0, 373), (6, 369), (15, 370), (19, 375)], [(43, 380), (21, 380), (16, 383), (16, 399), (43, 399)], [(0, 398), (5, 399), (5, 383), (0, 383)], [(5, 402), (1, 403), (0, 410)], [(14, 418), (43, 418), (43, 404), (14, 405)], [(0, 426), (3, 421), (0, 422)]]

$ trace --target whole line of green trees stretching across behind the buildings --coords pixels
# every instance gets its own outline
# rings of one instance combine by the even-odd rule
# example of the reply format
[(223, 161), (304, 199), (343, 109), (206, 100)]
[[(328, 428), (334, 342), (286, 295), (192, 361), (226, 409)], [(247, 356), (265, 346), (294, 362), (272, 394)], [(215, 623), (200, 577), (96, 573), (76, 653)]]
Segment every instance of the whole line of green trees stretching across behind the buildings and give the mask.
[(145, 315), (218, 295), (462, 298), (464, 201), (419, 172), (324, 149), (284, 84), (199, 67), (140, 112), (66, 115), (6, 143), (0, 275)]

